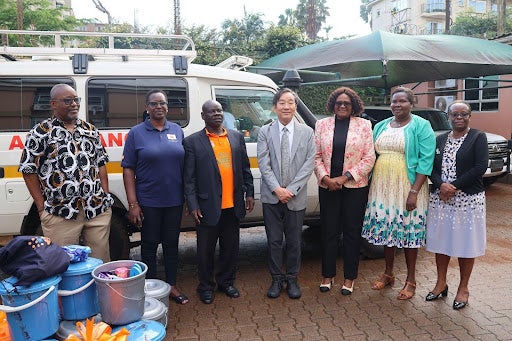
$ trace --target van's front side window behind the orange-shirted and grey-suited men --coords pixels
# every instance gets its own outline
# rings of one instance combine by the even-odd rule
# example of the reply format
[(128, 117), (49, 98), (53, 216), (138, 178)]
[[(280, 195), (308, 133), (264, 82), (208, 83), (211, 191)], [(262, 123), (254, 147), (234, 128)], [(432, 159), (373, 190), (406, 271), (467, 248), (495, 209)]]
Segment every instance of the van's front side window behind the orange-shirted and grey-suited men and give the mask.
[(261, 126), (277, 119), (273, 98), (269, 90), (215, 88), (215, 99), (224, 109), (224, 126), (240, 131), (247, 142), (256, 142)]

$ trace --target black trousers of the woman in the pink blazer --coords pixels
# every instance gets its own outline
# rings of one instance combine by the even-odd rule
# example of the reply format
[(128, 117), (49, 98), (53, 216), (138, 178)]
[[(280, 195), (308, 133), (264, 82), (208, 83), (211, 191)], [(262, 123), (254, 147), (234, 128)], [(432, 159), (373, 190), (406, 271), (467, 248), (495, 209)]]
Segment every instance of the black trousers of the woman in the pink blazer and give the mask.
[(369, 187), (332, 191), (319, 187), (322, 235), (322, 276), (336, 276), (338, 241), (343, 233), (343, 273), (346, 279), (356, 279), (359, 268), (361, 229), (368, 201)]

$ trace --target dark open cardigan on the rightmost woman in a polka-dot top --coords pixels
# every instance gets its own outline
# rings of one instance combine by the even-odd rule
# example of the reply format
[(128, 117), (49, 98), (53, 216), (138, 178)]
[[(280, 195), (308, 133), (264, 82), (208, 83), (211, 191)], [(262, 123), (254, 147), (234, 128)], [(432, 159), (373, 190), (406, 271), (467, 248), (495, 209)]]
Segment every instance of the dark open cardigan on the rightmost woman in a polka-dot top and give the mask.
[[(430, 176), (430, 181), (433, 184), (432, 191), (439, 188), (443, 183), (441, 180), (441, 167), (448, 134), (445, 133), (436, 138), (434, 168)], [(452, 184), (468, 194), (482, 192), (484, 190), (482, 175), (487, 170), (489, 163), (489, 149), (485, 133), (477, 129), (470, 129), (466, 139), (457, 151), (455, 162), (457, 179)]]

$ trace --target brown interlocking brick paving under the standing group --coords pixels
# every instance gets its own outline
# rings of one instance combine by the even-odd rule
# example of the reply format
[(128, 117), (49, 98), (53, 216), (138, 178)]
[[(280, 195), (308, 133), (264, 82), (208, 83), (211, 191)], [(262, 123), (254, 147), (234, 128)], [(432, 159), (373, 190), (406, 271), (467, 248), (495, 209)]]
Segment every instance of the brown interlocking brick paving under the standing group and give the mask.
[(307, 230), (299, 277), (302, 298), (290, 300), (284, 294), (269, 299), (262, 228), (242, 231), (236, 281), (242, 296), (230, 299), (217, 292), (214, 303), (204, 305), (195, 293), (195, 234), (183, 233), (178, 281), (191, 302), (170, 303), (165, 340), (512, 340), (512, 185), (498, 183), (488, 189), (487, 221), (487, 254), (476, 261), (469, 306), (461, 311), (452, 309), (458, 284), (456, 260), (450, 263), (448, 297), (425, 302), (436, 276), (434, 257), (424, 250), (417, 266), (416, 296), (409, 301), (396, 299), (405, 279), (403, 253), (396, 261), (393, 288), (370, 289), (383, 271), (384, 261), (377, 259), (361, 261), (351, 296), (339, 293), (340, 276), (334, 290), (320, 293), (318, 243), (315, 233)]

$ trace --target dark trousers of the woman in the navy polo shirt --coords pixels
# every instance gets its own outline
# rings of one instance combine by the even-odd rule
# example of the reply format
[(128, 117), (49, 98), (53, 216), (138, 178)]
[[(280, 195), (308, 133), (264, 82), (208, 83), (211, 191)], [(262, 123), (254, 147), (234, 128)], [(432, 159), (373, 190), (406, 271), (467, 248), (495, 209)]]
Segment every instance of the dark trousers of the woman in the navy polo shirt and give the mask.
[(156, 252), (162, 243), (165, 281), (176, 285), (178, 271), (178, 241), (183, 206), (142, 206), (144, 221), (141, 229), (141, 259), (148, 266), (146, 278), (157, 278)]

